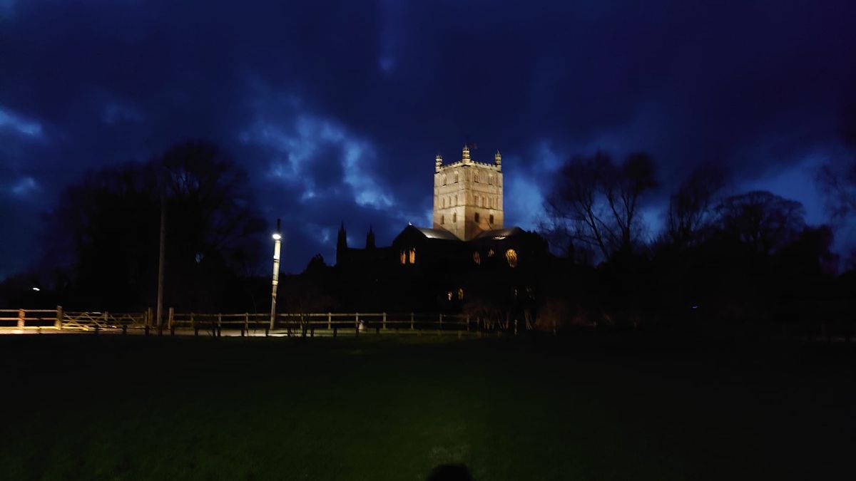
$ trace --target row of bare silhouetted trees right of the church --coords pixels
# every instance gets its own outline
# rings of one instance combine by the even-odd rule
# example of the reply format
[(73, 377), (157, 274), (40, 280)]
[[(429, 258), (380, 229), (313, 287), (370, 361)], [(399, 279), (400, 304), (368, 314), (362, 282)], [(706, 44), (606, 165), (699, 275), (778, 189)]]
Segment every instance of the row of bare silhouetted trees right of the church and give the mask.
[(563, 259), (542, 285), (548, 323), (847, 334), (856, 276), (839, 272), (832, 228), (807, 225), (799, 202), (770, 192), (726, 194), (727, 173), (705, 164), (671, 193), (652, 235), (642, 210), (658, 187), (654, 165), (603, 152), (564, 164), (542, 226)]

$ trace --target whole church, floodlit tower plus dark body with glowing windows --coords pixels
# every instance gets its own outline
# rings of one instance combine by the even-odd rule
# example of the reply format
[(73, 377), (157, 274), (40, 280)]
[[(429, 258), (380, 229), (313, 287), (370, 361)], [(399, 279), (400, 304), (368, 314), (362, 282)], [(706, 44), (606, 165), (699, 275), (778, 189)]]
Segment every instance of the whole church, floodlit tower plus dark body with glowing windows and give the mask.
[(523, 306), (537, 295), (538, 272), (549, 256), (537, 234), (504, 225), (502, 156), (434, 162), (431, 228), (407, 225), (391, 246), (348, 246), (345, 225), (336, 245), (342, 304), (360, 309), (461, 311), (467, 303)]

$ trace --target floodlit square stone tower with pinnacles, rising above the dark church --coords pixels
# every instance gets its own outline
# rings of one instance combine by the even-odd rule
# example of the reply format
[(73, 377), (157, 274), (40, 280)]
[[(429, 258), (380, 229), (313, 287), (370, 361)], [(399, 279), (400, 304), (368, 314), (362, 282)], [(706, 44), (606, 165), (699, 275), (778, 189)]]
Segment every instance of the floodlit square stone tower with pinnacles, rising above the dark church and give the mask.
[(494, 163), (473, 162), (464, 145), (461, 160), (434, 163), (434, 229), (446, 229), (462, 241), (485, 230), (502, 229), (502, 156)]

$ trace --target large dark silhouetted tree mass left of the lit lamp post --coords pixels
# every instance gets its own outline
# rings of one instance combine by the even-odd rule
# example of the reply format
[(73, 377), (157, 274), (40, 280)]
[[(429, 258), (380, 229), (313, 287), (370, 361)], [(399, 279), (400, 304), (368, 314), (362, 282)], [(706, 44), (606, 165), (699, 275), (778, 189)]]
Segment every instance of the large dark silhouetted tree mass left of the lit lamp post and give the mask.
[(229, 302), (227, 286), (256, 264), (262, 223), (246, 174), (228, 154), (188, 141), (146, 163), (98, 170), (62, 193), (46, 217), (45, 252), (68, 277), (66, 304), (152, 306), (162, 187), (167, 302), (198, 309)]

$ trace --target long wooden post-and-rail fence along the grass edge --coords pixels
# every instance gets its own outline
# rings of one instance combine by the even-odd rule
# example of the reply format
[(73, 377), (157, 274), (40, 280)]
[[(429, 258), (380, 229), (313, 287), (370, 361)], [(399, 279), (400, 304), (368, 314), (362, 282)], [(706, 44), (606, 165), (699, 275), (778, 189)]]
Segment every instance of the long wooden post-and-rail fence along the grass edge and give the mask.
[[(531, 329), (532, 326), (520, 326)], [(0, 332), (27, 330), (87, 332), (139, 330), (150, 334), (158, 330), (152, 309), (146, 312), (68, 312), (57, 306), (52, 310), (0, 310)], [(466, 315), (426, 314), (416, 312), (304, 312), (280, 313), (270, 319), (269, 314), (257, 313), (198, 313), (164, 312), (160, 332), (175, 336), (360, 336), (361, 334), (422, 334), (425, 331), (438, 335), (476, 335), (484, 330), (508, 330), (517, 334), (517, 321), (505, 323), (485, 322)]]

